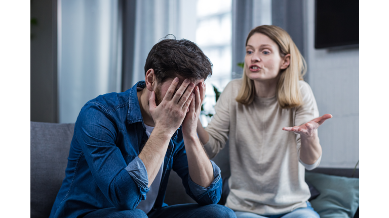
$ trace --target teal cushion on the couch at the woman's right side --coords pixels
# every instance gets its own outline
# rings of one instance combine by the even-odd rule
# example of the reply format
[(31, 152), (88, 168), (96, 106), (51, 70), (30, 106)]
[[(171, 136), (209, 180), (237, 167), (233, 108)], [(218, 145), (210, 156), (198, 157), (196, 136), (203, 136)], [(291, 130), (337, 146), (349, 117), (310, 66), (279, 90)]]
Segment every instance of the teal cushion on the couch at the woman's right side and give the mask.
[(359, 207), (358, 178), (306, 172), (305, 180), (320, 192), (310, 203), (321, 218), (354, 216)]

